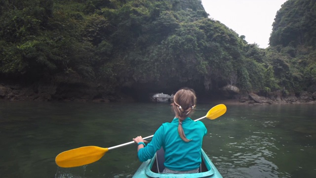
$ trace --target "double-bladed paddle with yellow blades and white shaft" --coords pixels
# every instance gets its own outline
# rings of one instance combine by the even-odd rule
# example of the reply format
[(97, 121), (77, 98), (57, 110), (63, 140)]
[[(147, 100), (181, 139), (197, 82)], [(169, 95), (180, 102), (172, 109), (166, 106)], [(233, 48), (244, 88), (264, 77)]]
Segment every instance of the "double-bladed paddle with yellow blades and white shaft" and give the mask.
[[(222, 116), (223, 114), (225, 114), (226, 110), (227, 108), (224, 104), (218, 104), (212, 107), (212, 109), (210, 109), (207, 112), (206, 116), (196, 119), (194, 121), (204, 119), (205, 117), (211, 120), (216, 119)], [(146, 140), (146, 139), (152, 138), (153, 136), (154, 135), (150, 135), (150, 136), (144, 137), (143, 139)], [(72, 168), (72, 167), (77, 167), (77, 166), (83, 166), (83, 165), (87, 165), (87, 164), (98, 161), (109, 150), (113, 150), (115, 148), (123, 147), (123, 146), (130, 145), (133, 143), (135, 142), (130, 141), (130, 142), (123, 143), (117, 146), (112, 146), (109, 148), (101, 148), (98, 146), (83, 146), (80, 148), (75, 148), (75, 149), (71, 149), (71, 150), (59, 153), (55, 158), (55, 162), (59, 167), (62, 167), (62, 168)]]

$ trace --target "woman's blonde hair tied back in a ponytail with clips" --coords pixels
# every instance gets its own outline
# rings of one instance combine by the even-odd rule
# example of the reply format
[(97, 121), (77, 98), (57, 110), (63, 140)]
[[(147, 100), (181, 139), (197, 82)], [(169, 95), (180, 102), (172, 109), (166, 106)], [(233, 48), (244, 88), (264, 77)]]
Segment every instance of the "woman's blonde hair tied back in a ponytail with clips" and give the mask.
[(193, 113), (193, 109), (196, 107), (197, 96), (193, 89), (183, 88), (179, 89), (173, 97), (173, 111), (176, 117), (179, 119), (178, 133), (181, 139), (185, 142), (189, 142), (190, 139), (186, 137), (182, 128), (182, 121), (190, 117)]

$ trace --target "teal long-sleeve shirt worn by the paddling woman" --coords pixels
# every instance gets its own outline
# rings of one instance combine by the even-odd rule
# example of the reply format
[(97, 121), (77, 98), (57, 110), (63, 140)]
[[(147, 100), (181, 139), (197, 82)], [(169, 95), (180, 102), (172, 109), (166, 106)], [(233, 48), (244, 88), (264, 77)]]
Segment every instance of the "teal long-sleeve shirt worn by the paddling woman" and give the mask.
[(207, 130), (202, 122), (186, 118), (182, 122), (182, 128), (186, 137), (192, 140), (185, 142), (178, 134), (178, 125), (178, 118), (174, 118), (171, 123), (162, 124), (152, 141), (138, 151), (139, 160), (144, 162), (153, 158), (162, 146), (166, 168), (177, 171), (197, 169), (201, 163), (202, 141)]

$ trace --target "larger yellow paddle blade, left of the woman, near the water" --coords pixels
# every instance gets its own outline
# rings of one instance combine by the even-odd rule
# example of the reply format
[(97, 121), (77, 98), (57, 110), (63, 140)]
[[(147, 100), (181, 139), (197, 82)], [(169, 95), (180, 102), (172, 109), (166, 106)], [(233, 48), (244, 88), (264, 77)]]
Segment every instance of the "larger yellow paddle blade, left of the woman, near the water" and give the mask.
[(108, 151), (108, 148), (83, 146), (59, 153), (55, 162), (62, 168), (83, 166), (98, 161)]

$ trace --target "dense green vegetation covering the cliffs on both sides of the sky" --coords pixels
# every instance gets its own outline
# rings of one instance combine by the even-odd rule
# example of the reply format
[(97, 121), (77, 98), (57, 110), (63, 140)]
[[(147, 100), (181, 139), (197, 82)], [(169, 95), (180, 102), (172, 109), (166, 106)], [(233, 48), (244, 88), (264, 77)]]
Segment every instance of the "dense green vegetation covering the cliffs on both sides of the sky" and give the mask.
[(1, 0), (0, 79), (103, 86), (92, 98), (181, 86), (300, 92), (316, 82), (315, 11), (313, 0), (288, 0), (262, 49), (200, 0)]

